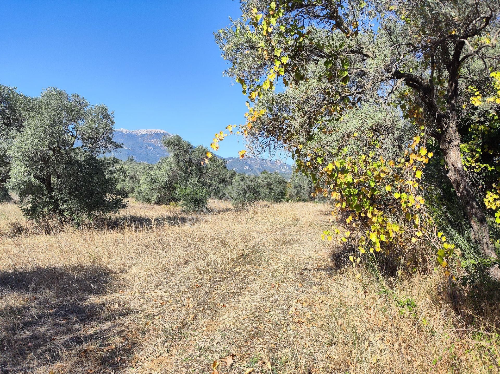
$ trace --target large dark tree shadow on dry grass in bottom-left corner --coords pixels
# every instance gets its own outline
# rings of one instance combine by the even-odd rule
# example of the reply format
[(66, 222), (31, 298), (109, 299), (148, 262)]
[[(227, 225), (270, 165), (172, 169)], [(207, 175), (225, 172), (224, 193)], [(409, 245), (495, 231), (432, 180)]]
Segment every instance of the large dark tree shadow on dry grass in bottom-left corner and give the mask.
[(0, 373), (119, 371), (133, 310), (106, 302), (110, 280), (98, 265), (0, 273)]

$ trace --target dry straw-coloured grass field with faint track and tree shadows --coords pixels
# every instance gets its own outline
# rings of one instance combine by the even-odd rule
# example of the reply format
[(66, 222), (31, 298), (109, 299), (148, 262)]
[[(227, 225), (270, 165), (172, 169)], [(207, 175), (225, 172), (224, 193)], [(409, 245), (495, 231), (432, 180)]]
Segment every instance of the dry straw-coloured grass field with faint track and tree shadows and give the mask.
[(131, 203), (43, 233), (0, 205), (0, 373), (497, 373), (500, 302), (357, 280), (328, 207)]

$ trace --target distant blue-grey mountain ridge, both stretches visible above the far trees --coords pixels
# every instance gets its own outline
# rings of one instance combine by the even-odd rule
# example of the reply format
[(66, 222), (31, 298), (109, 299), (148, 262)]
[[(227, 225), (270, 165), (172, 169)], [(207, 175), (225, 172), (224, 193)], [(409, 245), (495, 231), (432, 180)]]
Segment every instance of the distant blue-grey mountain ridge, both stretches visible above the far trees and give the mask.
[[(158, 129), (127, 130), (118, 128), (114, 130), (114, 141), (122, 144), (106, 156), (114, 156), (120, 160), (126, 160), (132, 156), (137, 162), (155, 164), (161, 157), (168, 156), (168, 152), (161, 143), (163, 136), (173, 134)], [(277, 171), (283, 176), (291, 175), (291, 166), (278, 160), (265, 160), (253, 157), (227, 157), (227, 169), (238, 173), (260, 174), (262, 171)]]

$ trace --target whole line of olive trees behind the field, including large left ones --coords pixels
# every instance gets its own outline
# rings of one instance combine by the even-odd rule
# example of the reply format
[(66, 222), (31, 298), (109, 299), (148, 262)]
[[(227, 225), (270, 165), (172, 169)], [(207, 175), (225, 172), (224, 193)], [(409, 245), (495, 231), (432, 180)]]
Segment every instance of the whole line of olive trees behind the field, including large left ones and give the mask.
[(113, 141), (113, 112), (78, 94), (48, 88), (29, 97), (0, 85), (0, 201), (17, 194), (29, 219), (79, 223), (115, 213), (132, 197), (149, 204), (179, 202), (187, 211), (206, 208), (208, 198), (245, 206), (258, 200), (307, 201), (312, 181), (294, 174), (259, 176), (227, 170), (225, 160), (180, 136), (162, 139), (169, 156), (154, 165), (105, 153)]

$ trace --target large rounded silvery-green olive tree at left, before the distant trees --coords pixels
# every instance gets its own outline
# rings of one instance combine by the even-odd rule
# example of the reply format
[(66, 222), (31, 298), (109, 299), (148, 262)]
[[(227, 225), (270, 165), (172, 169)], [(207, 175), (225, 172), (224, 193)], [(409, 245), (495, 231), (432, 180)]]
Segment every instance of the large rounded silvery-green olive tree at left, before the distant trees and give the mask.
[(49, 88), (22, 114), (22, 131), (7, 150), (9, 186), (29, 218), (80, 222), (125, 205), (116, 195), (116, 162), (97, 158), (118, 146), (105, 105)]

